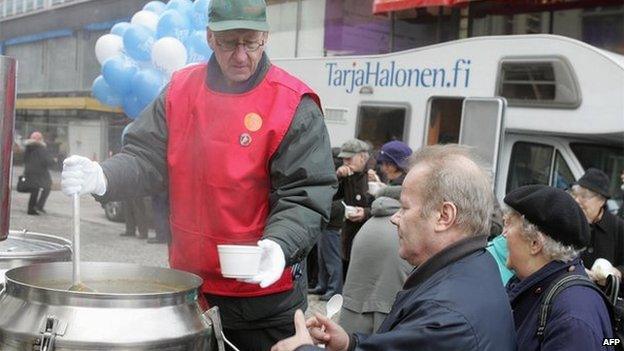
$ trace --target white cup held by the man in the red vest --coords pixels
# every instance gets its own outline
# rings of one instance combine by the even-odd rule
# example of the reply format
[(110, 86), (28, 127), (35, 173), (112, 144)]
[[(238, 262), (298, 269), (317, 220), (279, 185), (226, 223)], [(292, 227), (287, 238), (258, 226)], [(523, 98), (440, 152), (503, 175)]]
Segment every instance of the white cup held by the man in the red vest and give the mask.
[(258, 274), (262, 249), (249, 245), (217, 245), (221, 275), (225, 278), (251, 278)]

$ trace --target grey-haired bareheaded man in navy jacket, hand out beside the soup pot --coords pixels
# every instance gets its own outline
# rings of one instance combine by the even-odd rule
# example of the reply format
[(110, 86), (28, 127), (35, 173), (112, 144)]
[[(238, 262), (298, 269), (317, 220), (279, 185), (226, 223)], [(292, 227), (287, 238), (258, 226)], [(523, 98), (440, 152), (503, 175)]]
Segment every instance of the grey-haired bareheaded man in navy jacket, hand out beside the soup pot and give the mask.
[(399, 255), (418, 268), (397, 294), (375, 334), (347, 334), (317, 314), (295, 314), (295, 336), (273, 351), (516, 349), (513, 316), (498, 268), (485, 250), (492, 212), (491, 181), (467, 149), (422, 148), (412, 156), (392, 217)]

